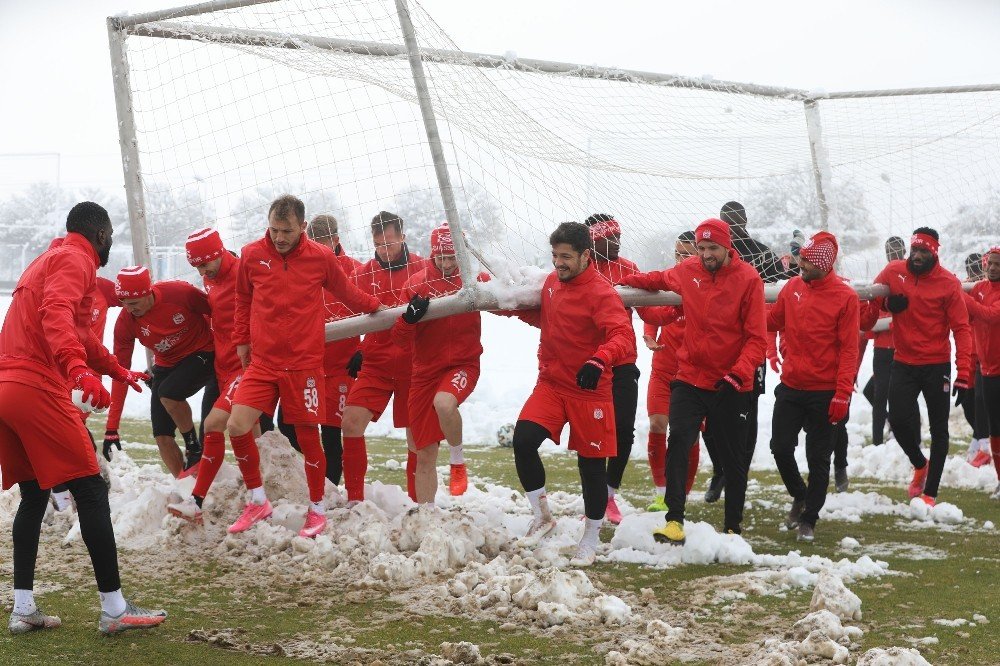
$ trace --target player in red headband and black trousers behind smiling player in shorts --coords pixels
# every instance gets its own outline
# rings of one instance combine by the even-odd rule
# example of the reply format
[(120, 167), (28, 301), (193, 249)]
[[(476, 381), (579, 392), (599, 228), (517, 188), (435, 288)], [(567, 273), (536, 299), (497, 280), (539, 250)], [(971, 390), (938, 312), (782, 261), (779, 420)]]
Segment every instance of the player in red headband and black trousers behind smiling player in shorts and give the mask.
[[(638, 273), (639, 267), (625, 257), (620, 256), (621, 225), (607, 213), (595, 213), (584, 220), (590, 228), (590, 237), (594, 242), (594, 268), (604, 276), (612, 286), (621, 282), (622, 278), (632, 273)], [(643, 317), (646, 308), (638, 310)], [(631, 318), (631, 310), (629, 310)], [(612, 368), (611, 396), (615, 403), (615, 435), (618, 438), (618, 453), (608, 460), (608, 507), (605, 517), (617, 525), (622, 521), (622, 512), (615, 501), (615, 495), (622, 484), (622, 476), (632, 454), (632, 444), (635, 443), (635, 412), (639, 402), (639, 368), (636, 366), (637, 356), (626, 357)]]

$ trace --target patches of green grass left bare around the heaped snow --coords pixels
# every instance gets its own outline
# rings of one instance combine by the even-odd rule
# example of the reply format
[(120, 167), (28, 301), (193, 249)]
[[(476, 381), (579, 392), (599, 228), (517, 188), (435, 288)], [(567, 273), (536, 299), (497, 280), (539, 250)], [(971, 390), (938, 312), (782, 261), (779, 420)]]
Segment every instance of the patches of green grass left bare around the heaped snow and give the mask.
[[(103, 423), (92, 422), (95, 433), (103, 433)], [(123, 421), (123, 440), (153, 444), (148, 423)], [(100, 440), (98, 440), (100, 445)], [(127, 446), (127, 445), (126, 445)], [(641, 444), (637, 443), (637, 446)], [(384, 463), (394, 459), (405, 462), (405, 444), (398, 440), (371, 438), (368, 440), (371, 458), (369, 481), (402, 485), (402, 469), (386, 469)], [(133, 447), (130, 455), (144, 463), (158, 463), (155, 448)], [(442, 452), (441, 465), (447, 464)], [(520, 488), (510, 449), (468, 447), (470, 473), (479, 480)], [(543, 456), (546, 465), (546, 487), (550, 491), (579, 492), (579, 476), (575, 456), (569, 453)], [(878, 544), (907, 543), (938, 549), (946, 559), (907, 559), (899, 555), (876, 555), (886, 560), (890, 569), (903, 575), (869, 578), (849, 585), (861, 597), (864, 618), (856, 624), (865, 634), (863, 649), (870, 647), (908, 647), (908, 638), (934, 636), (937, 644), (918, 646), (934, 664), (998, 664), (1000, 638), (994, 630), (1000, 622), (1000, 602), (995, 581), (1000, 579), (1000, 549), (997, 532), (960, 527), (943, 529), (907, 529), (906, 521), (894, 516), (864, 516), (860, 523), (821, 521), (817, 525), (816, 541), (798, 543), (794, 534), (781, 527), (788, 498), (780, 478), (774, 473), (753, 473), (758, 481), (748, 499), (744, 536), (758, 553), (785, 554), (799, 550), (804, 555), (821, 555), (838, 560), (856, 559), (868, 547)], [(905, 501), (902, 484), (882, 484), (871, 479), (852, 480), (864, 484), (865, 490), (881, 492), (897, 501)], [(688, 504), (688, 519), (704, 520), (721, 528), (723, 503), (705, 504), (700, 495), (707, 476), (700, 475)], [(651, 498), (648, 470), (644, 461), (636, 460), (625, 475), (622, 494), (636, 506), (645, 506)], [(978, 524), (997, 521), (997, 504), (986, 493), (947, 489), (947, 501), (958, 505), (966, 517)], [(763, 509), (756, 500), (775, 502)], [(3, 547), (9, 557), (9, 531)], [(611, 539), (613, 531), (602, 531), (602, 539)], [(861, 543), (852, 553), (839, 550), (839, 542), (850, 536)], [(51, 544), (43, 547), (42, 559), (53, 552)], [(123, 572), (128, 582), (127, 593), (148, 606), (164, 606), (170, 617), (163, 627), (152, 632), (133, 632), (107, 639), (98, 636), (96, 621), (98, 604), (89, 578), (89, 561), (82, 549), (74, 549), (79, 570), (86, 575), (48, 580), (62, 582), (60, 592), (41, 595), (42, 607), (62, 616), (64, 626), (55, 632), (10, 637), (0, 635), (0, 663), (109, 663), (109, 664), (256, 664), (270, 663), (274, 657), (220, 649), (205, 642), (185, 640), (194, 629), (221, 630), (242, 627), (247, 630), (242, 639), (267, 645), (298, 636), (318, 639), (324, 632), (346, 638), (346, 644), (357, 648), (398, 653), (419, 648), (440, 653), (444, 641), (468, 640), (480, 645), (484, 655), (511, 653), (519, 660), (539, 664), (603, 663), (603, 657), (593, 651), (585, 636), (557, 639), (527, 631), (501, 629), (496, 622), (473, 621), (450, 616), (420, 616), (410, 609), (385, 600), (352, 601), (343, 593), (343, 581), (331, 586), (328, 597), (321, 602), (300, 606), (296, 599), (305, 592), (290, 572), (287, 585), (280, 590), (264, 589), (253, 580), (252, 566), (247, 571), (233, 572), (232, 565), (205, 559), (200, 562), (178, 561), (169, 553), (163, 555), (163, 576), (153, 580), (136, 580), (128, 575), (128, 562), (134, 557), (150, 557), (149, 553), (122, 553)], [(58, 553), (62, 556), (62, 553)], [(9, 560), (8, 560), (9, 561)], [(44, 563), (40, 565), (40, 572)], [(696, 610), (704, 614), (706, 623), (720, 627), (720, 635), (734, 642), (752, 642), (766, 636), (781, 636), (792, 624), (808, 612), (810, 591), (791, 591), (785, 598), (750, 596), (732, 602), (743, 606), (733, 624), (723, 605), (708, 605), (702, 609), (691, 606), (688, 592), (707, 583), (708, 577), (729, 576), (749, 571), (749, 567), (732, 565), (683, 566), (676, 569), (654, 570), (627, 564), (601, 563), (588, 575), (604, 590), (614, 594), (623, 591), (638, 594), (650, 588), (657, 599), (678, 610)], [(220, 576), (232, 580), (234, 574), (244, 578), (235, 586), (216, 584)], [(42, 574), (40, 573), (40, 578)], [(311, 590), (311, 592), (315, 592)], [(309, 595), (307, 595), (309, 596)], [(314, 596), (314, 595), (313, 595)], [(310, 596), (312, 598), (312, 596)], [(969, 627), (947, 627), (933, 623), (935, 618), (972, 619), (974, 613), (986, 615), (990, 624)], [(353, 642), (352, 642), (353, 641)], [(344, 644), (344, 643), (339, 643)], [(860, 652), (854, 652), (854, 657)]]

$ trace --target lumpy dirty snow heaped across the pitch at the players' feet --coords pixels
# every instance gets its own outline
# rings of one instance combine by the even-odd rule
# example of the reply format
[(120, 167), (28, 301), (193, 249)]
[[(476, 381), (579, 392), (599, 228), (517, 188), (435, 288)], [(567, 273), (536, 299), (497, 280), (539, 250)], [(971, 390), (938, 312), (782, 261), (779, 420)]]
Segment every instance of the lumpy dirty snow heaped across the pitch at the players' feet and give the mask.
[[(181, 549), (192, 556), (228, 561), (237, 570), (252, 567), (260, 577), (283, 575), (294, 568), (317, 581), (354, 580), (357, 588), (384, 593), (418, 612), (499, 621), (508, 631), (564, 625), (602, 632), (599, 635), (606, 632), (608, 664), (664, 663), (668, 656), (682, 660), (731, 656), (733, 646), (720, 643), (718, 636), (699, 635), (697, 623), (673, 620), (669, 604), (661, 605), (651, 590), (634, 594), (608, 589), (585, 570), (568, 567), (569, 552), (583, 529), (581, 500), (574, 494), (550, 494), (557, 527), (537, 548), (523, 549), (516, 540), (530, 521), (530, 508), (523, 495), (510, 488), (473, 477), (465, 496), (451, 498), (442, 488), (439, 508), (418, 510), (402, 489), (378, 482), (367, 488), (370, 501), (347, 508), (338, 490), (328, 484), (329, 526), (309, 540), (296, 536), (306, 501), (301, 457), (273, 432), (262, 437), (260, 450), (274, 515), (240, 535), (225, 532), (245, 501), (238, 472), (229, 463), (223, 465), (206, 500), (206, 525), (194, 527), (166, 513), (168, 502), (190, 493), (192, 479), (176, 481), (158, 465), (138, 465), (127, 452), (117, 454), (111, 463), (110, 501), (119, 547), (149, 553)], [(17, 501), (16, 489), (0, 494), (0, 522), (11, 520)], [(901, 516), (905, 509), (876, 493), (852, 493), (837, 499), (825, 518), (850, 520), (842, 515), (845, 507)], [(660, 514), (628, 506), (625, 512), (614, 537), (601, 544), (599, 561), (657, 568), (750, 565), (743, 573), (713, 577), (703, 593), (703, 609), (725, 613), (749, 596), (784, 598), (812, 590), (809, 612), (794, 626), (759, 644), (742, 646), (755, 661), (795, 664), (822, 657), (826, 663), (847, 663), (853, 657), (861, 659), (858, 663), (927, 663), (913, 648), (860, 653), (862, 629), (855, 623), (862, 619), (863, 609), (849, 586), (896, 572), (863, 553), (856, 540), (844, 540), (841, 546), (847, 556), (840, 560), (799, 551), (782, 554), (780, 549), (761, 553), (740, 536), (719, 534), (711, 525), (696, 522), (687, 526), (687, 543), (676, 548), (651, 538), (651, 528), (662, 520)], [(80, 540), (72, 512), (50, 515), (48, 520), (66, 534), (65, 543)]]

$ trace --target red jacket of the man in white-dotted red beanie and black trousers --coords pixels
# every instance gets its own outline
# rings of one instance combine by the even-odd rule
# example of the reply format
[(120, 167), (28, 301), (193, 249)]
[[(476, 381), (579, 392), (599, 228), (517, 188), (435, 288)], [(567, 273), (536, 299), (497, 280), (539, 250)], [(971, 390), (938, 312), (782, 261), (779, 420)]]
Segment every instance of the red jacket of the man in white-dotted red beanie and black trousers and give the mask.
[(789, 280), (767, 314), (781, 332), (781, 383), (799, 391), (850, 395), (858, 371), (858, 295), (839, 275)]

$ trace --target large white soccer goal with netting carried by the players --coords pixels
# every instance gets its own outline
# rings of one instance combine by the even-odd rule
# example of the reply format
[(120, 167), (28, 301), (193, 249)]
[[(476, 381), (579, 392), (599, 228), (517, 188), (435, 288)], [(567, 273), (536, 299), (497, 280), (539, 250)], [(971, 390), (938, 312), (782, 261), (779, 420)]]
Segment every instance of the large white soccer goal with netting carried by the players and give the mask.
[[(448, 220), (463, 275), (484, 265), (497, 284), (546, 266), (554, 226), (592, 213), (662, 268), (730, 200), (779, 256), (795, 229), (834, 232), (860, 282), (918, 226), (942, 232), (954, 271), (997, 238), (1000, 84), (821, 92), (471, 53), (415, 0), (217, 0), (108, 31), (147, 265), (199, 226), (238, 249), (284, 192), (334, 214), (362, 259), (381, 210), (422, 255)], [(455, 311), (496, 307), (466, 282)]]

